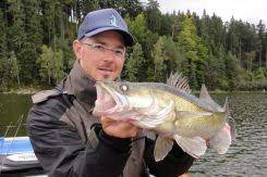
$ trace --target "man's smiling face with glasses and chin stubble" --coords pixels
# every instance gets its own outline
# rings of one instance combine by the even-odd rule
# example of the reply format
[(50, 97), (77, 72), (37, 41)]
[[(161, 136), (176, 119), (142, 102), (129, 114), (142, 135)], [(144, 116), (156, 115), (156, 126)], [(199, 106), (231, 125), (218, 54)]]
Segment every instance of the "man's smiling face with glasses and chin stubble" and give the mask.
[(107, 30), (85, 37), (75, 40), (73, 49), (82, 68), (96, 80), (114, 80), (121, 74), (125, 56), (118, 52), (125, 51), (125, 47), (120, 34)]

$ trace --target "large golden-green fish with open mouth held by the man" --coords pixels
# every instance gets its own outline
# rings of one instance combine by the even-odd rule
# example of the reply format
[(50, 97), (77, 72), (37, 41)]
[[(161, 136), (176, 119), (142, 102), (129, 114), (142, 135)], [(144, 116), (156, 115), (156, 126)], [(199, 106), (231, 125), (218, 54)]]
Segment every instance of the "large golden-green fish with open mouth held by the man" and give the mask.
[(234, 119), (226, 99), (220, 106), (202, 85), (199, 97), (192, 93), (187, 79), (170, 74), (163, 83), (96, 81), (93, 114), (133, 125), (157, 135), (155, 161), (163, 160), (174, 141), (198, 159), (207, 148), (224, 154), (236, 137)]

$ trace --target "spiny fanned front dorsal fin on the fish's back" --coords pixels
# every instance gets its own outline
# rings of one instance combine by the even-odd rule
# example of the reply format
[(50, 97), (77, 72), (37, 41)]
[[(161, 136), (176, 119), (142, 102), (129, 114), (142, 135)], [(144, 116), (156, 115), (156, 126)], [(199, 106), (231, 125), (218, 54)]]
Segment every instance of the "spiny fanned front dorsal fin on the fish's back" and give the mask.
[(170, 74), (170, 77), (167, 79), (167, 85), (174, 86), (178, 89), (191, 94), (191, 88), (189, 86), (189, 81), (186, 77), (184, 77), (181, 73), (178, 72), (175, 74)]

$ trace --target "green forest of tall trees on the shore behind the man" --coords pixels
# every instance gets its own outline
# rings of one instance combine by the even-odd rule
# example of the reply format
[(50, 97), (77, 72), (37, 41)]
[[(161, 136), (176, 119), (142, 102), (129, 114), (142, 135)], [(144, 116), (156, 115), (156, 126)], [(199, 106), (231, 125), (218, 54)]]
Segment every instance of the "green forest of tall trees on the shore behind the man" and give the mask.
[(203, 11), (161, 13), (156, 0), (1, 0), (0, 91), (52, 88), (68, 76), (72, 41), (87, 12), (114, 8), (136, 39), (122, 79), (166, 81), (183, 73), (193, 90), (267, 89), (267, 28)]

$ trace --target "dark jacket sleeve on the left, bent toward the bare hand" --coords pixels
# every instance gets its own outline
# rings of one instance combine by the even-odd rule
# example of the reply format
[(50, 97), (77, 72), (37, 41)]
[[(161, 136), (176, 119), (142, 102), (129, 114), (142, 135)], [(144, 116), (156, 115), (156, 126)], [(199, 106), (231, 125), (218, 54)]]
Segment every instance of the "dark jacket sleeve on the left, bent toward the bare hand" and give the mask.
[(109, 137), (101, 127), (96, 131), (98, 146), (82, 141), (77, 131), (59, 121), (59, 102), (34, 105), (27, 118), (27, 132), (39, 163), (51, 177), (117, 177), (130, 155), (130, 139)]

